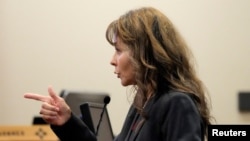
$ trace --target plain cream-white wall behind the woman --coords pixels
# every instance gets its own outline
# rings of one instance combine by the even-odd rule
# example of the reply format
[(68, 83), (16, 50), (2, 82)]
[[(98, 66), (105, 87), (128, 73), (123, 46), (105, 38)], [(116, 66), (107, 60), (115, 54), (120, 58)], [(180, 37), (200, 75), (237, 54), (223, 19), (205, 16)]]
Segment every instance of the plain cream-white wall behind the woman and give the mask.
[(248, 0), (1, 0), (0, 125), (30, 125), (41, 103), (23, 94), (47, 95), (52, 85), (58, 93), (110, 93), (118, 133), (130, 100), (109, 65), (105, 30), (127, 10), (148, 5), (166, 13), (193, 49), (217, 122), (250, 123), (237, 109), (237, 93), (250, 90)]

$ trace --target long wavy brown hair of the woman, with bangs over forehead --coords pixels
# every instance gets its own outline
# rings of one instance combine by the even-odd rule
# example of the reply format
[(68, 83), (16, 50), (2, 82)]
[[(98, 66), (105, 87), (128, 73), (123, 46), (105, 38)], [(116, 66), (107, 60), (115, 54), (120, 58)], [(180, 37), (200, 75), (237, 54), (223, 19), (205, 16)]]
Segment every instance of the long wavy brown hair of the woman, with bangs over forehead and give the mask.
[(161, 90), (194, 94), (206, 125), (211, 124), (208, 92), (194, 69), (194, 57), (171, 21), (159, 10), (143, 7), (128, 11), (107, 28), (114, 45), (119, 37), (128, 45), (136, 69), (133, 104), (141, 111)]

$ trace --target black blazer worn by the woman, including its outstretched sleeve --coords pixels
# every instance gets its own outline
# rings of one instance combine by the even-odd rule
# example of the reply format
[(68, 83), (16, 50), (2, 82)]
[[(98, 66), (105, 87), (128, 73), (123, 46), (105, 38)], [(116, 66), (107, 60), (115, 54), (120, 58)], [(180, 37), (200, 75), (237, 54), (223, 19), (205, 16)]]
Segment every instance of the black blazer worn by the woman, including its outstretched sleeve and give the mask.
[[(168, 92), (153, 97), (143, 118), (131, 106), (115, 141), (204, 141), (204, 125), (190, 94)], [(96, 141), (95, 135), (73, 114), (52, 130), (61, 141)]]

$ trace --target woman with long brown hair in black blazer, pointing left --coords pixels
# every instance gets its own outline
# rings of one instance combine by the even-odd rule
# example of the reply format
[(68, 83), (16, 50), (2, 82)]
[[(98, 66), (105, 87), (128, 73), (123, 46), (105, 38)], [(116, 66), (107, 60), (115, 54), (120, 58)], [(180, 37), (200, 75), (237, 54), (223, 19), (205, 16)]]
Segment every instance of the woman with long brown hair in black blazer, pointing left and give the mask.
[[(206, 91), (192, 66), (192, 54), (171, 21), (159, 10), (142, 7), (110, 23), (111, 65), (135, 97), (115, 141), (203, 141), (211, 122)], [(61, 141), (95, 141), (85, 123), (49, 87), (40, 114)]]

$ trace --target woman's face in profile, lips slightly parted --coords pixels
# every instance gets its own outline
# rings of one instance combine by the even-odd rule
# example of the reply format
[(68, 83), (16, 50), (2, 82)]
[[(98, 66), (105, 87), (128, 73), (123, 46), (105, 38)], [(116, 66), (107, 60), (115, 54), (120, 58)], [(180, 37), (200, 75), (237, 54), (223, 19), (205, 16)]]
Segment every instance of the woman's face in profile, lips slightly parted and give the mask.
[(121, 79), (123, 86), (135, 84), (135, 69), (130, 60), (130, 51), (125, 43), (116, 39), (115, 53), (110, 62), (115, 67), (115, 74)]

